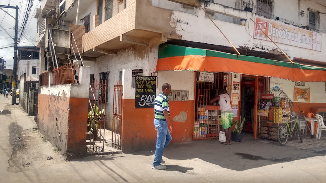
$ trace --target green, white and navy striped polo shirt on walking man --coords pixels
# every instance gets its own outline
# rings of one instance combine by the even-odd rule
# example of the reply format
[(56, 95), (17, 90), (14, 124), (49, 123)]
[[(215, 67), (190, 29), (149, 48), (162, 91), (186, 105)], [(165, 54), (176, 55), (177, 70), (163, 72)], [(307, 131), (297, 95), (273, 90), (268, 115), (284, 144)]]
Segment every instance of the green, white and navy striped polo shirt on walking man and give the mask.
[(157, 95), (154, 101), (154, 116), (157, 119), (165, 119), (163, 111), (168, 111), (170, 115), (170, 105), (168, 97), (164, 93)]

